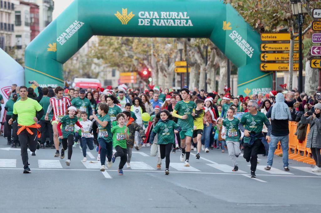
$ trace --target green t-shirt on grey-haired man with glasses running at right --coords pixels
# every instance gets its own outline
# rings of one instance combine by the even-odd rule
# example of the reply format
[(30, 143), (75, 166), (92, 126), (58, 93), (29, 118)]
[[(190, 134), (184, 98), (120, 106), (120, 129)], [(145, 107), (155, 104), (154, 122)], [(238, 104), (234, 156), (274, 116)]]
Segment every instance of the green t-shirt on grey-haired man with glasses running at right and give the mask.
[[(270, 121), (268, 118), (266, 118), (264, 113), (259, 111), (257, 111), (256, 115), (252, 115), (249, 112), (244, 113), (240, 121), (240, 124), (244, 125), (246, 130), (250, 132), (254, 131), (255, 133), (262, 132), (264, 123), (270, 123)], [(248, 143), (249, 141), (250, 137), (244, 136), (244, 143)]]

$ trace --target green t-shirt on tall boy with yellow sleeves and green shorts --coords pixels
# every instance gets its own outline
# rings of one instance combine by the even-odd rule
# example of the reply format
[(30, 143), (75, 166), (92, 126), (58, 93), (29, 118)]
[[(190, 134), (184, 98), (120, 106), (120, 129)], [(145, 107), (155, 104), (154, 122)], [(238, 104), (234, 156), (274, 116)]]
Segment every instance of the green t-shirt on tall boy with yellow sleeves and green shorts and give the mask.
[(182, 131), (193, 130), (194, 129), (194, 120), (191, 113), (196, 108), (196, 104), (193, 101), (184, 102), (179, 101), (176, 103), (174, 110), (177, 111), (178, 115), (187, 115), (187, 119), (178, 119), (177, 124), (182, 127)]

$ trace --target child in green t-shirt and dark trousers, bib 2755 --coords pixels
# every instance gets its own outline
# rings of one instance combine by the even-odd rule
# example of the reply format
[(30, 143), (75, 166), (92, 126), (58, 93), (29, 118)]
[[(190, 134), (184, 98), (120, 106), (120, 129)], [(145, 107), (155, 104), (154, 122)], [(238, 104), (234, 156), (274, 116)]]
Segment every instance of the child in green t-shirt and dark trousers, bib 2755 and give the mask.
[(105, 161), (107, 154), (107, 167), (110, 168), (112, 166), (112, 155), (113, 155), (113, 135), (111, 133), (110, 127), (110, 117), (107, 114), (109, 111), (109, 107), (107, 103), (99, 103), (98, 104), (98, 116), (93, 115), (93, 118), (97, 122), (98, 126), (98, 143), (100, 145), (100, 163), (101, 168), (100, 171), (105, 171)]

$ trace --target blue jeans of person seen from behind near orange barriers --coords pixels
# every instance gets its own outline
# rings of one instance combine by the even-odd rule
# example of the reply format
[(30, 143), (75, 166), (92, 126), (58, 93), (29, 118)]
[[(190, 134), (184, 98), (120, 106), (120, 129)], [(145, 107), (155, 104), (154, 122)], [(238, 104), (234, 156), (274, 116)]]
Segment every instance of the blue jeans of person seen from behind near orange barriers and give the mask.
[(269, 155), (267, 156), (267, 165), (272, 166), (273, 164), (273, 157), (275, 148), (280, 141), (281, 148), (283, 152), (282, 160), (283, 160), (283, 167), (289, 166), (289, 135), (285, 136), (274, 136), (271, 135), (271, 141), (269, 143)]

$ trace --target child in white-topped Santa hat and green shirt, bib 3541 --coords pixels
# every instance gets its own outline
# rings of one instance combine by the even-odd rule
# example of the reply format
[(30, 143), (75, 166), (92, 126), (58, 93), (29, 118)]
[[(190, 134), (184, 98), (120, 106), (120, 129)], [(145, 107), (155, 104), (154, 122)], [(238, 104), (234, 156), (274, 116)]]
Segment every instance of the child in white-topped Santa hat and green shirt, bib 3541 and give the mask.
[[(65, 158), (65, 150), (68, 148), (68, 160), (66, 160), (66, 165), (70, 166), (71, 155), (73, 154), (73, 143), (74, 143), (74, 125), (76, 124), (81, 128), (83, 132), (82, 126), (78, 121), (78, 118), (75, 116), (77, 113), (77, 109), (74, 106), (70, 106), (68, 108), (68, 115), (65, 115), (58, 123), (57, 130), (59, 134), (59, 138), (61, 139), (62, 148), (60, 153), (60, 158)], [(62, 125), (62, 129), (60, 126)]]

